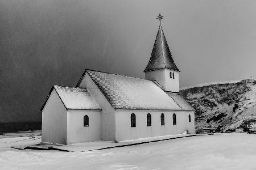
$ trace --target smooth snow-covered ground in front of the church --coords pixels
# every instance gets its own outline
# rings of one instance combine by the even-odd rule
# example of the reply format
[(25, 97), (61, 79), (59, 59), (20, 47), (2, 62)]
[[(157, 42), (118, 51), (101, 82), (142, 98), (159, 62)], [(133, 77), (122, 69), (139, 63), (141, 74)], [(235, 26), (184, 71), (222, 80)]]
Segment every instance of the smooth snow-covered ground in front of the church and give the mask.
[(15, 150), (40, 136), (0, 139), (0, 169), (256, 169), (255, 134), (214, 134), (89, 152)]

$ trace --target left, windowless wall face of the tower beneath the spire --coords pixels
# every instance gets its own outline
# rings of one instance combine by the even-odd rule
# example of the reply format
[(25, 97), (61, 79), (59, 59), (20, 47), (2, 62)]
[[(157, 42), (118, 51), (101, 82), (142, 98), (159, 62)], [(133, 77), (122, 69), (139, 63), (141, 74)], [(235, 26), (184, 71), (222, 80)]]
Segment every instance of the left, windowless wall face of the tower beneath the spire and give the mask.
[(166, 88), (166, 80), (165, 80), (165, 72), (164, 69), (148, 71), (145, 73), (145, 79), (147, 80), (156, 80), (164, 89)]

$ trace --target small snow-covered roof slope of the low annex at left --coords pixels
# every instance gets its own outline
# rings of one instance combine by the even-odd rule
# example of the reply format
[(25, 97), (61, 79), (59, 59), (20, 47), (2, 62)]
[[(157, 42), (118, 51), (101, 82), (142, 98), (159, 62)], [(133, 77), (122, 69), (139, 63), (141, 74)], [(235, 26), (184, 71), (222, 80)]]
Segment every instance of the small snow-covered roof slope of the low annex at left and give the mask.
[(86, 88), (53, 86), (67, 109), (101, 109)]

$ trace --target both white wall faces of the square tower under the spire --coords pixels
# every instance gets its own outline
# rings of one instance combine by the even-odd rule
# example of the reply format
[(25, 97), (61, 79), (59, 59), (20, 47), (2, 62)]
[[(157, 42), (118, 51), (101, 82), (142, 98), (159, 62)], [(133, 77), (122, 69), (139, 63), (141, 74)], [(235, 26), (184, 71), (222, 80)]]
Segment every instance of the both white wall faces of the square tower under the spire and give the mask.
[[(170, 72), (174, 73), (174, 78), (170, 78)], [(145, 73), (145, 79), (156, 80), (164, 90), (179, 92), (179, 72), (169, 69), (160, 69), (155, 71), (149, 71)]]

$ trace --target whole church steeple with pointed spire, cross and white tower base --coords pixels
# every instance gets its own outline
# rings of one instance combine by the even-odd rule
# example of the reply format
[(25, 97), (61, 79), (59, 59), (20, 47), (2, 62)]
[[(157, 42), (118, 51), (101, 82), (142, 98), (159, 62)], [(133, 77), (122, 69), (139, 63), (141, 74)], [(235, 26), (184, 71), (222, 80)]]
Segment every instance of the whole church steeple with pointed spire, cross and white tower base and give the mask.
[(179, 92), (179, 72), (174, 63), (172, 54), (164, 36), (161, 26), (163, 16), (159, 14), (159, 28), (156, 35), (154, 48), (152, 49), (150, 61), (147, 64), (145, 78), (155, 80), (165, 91)]

